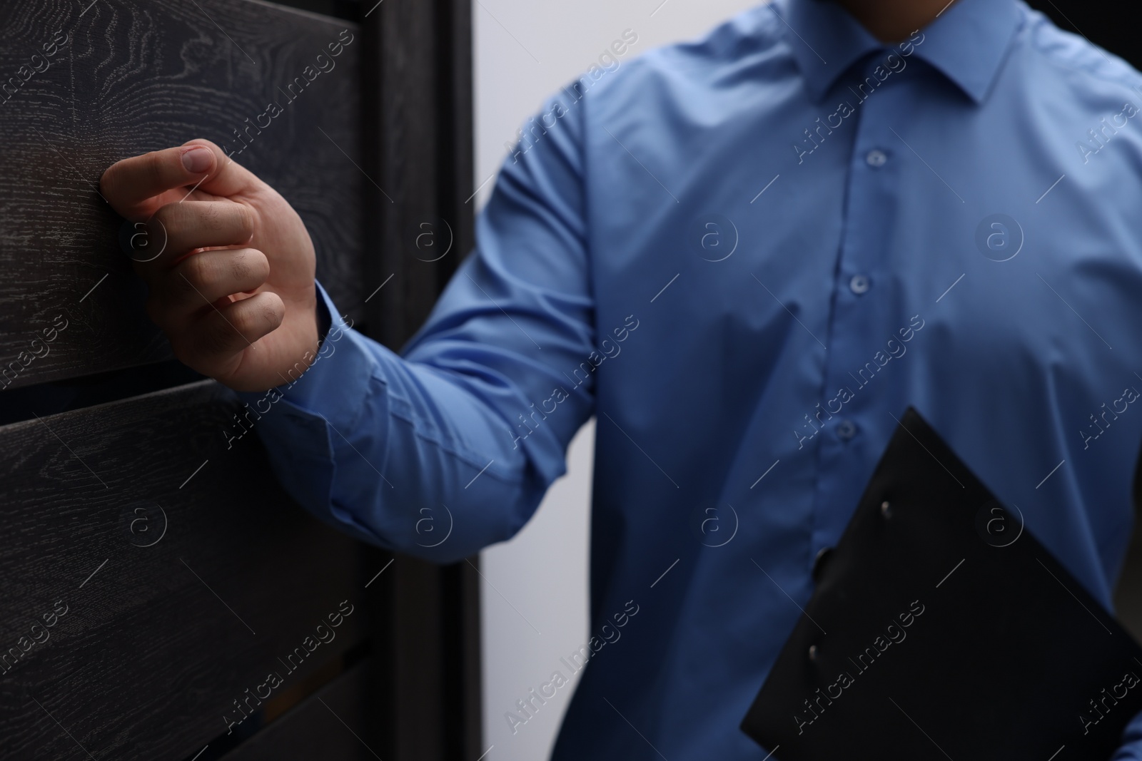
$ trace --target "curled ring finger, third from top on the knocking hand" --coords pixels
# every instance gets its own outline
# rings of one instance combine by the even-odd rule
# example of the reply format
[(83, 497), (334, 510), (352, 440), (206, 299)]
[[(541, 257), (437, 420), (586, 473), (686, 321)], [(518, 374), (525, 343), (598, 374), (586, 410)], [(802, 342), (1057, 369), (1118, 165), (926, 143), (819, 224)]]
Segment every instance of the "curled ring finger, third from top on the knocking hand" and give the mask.
[(147, 314), (163, 330), (177, 333), (195, 314), (212, 309), (227, 296), (254, 291), (268, 277), (270, 259), (257, 249), (202, 251), (153, 278)]

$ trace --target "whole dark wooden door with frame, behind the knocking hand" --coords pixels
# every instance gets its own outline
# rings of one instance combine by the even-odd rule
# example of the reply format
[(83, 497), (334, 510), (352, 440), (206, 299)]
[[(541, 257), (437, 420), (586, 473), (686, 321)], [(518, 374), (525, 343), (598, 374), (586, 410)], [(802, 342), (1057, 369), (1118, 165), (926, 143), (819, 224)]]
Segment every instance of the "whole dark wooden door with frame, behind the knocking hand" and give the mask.
[(119, 159), (218, 143), (397, 348), (472, 244), (468, 6), (295, 5), (323, 13), (0, 0), (0, 758), (483, 752), (475, 558), (298, 508), (228, 438), (236, 397), (171, 359), (98, 193)]

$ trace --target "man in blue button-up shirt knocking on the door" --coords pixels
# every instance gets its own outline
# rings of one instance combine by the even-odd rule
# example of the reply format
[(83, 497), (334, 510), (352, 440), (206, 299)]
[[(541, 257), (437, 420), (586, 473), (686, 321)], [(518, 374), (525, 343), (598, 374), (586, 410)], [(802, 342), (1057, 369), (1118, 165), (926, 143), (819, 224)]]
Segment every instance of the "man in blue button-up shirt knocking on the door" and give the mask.
[(545, 104), (403, 357), (345, 329), (300, 220), (212, 144), (103, 192), (167, 229), (139, 270), (177, 356), (272, 404), (280, 478), (355, 536), (440, 561), (510, 537), (596, 414), (593, 642), (624, 629), (554, 758), (758, 760), (738, 724), (908, 405), (1110, 607), (1140, 86), (1018, 0), (758, 6)]

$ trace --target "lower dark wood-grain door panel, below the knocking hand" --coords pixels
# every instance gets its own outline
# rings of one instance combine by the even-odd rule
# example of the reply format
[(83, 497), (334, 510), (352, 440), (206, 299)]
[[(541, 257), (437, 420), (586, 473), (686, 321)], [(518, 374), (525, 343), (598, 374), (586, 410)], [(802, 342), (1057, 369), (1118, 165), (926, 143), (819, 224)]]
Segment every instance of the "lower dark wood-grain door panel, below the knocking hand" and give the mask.
[(377, 569), (282, 493), (256, 436), (226, 448), (239, 408), (203, 381), (0, 428), (0, 756), (188, 758), (270, 672), (290, 689), (363, 640)]

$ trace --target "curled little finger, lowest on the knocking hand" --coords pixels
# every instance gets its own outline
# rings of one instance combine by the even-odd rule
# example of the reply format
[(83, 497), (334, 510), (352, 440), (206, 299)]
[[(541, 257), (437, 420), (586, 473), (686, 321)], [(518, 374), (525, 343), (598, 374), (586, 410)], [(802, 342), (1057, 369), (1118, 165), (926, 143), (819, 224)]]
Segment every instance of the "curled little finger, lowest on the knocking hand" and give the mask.
[(172, 341), (175, 356), (211, 377), (232, 373), (240, 355), (275, 330), (286, 317), (286, 305), (272, 291), (210, 309)]

